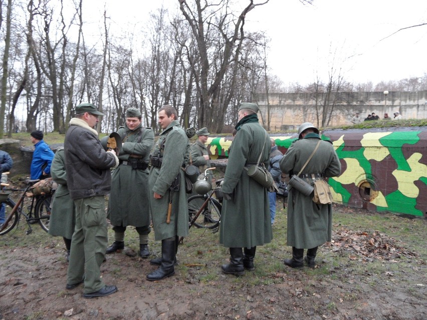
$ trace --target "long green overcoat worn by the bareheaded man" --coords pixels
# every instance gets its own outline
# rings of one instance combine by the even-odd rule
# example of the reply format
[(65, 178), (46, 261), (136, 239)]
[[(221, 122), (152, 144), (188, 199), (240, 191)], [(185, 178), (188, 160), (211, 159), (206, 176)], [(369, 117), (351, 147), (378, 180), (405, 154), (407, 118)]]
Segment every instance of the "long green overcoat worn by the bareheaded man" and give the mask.
[[(174, 120), (162, 131), (151, 154), (153, 157), (162, 157), (161, 168), (151, 167), (148, 177), (155, 240), (188, 234), (188, 203), (182, 165), (188, 161), (189, 148), (190, 143), (185, 131), (179, 122)], [(172, 213), (170, 223), (166, 223), (170, 199), (169, 187), (178, 174), (180, 175), (179, 191), (172, 192)], [(162, 197), (155, 199), (154, 192)]]

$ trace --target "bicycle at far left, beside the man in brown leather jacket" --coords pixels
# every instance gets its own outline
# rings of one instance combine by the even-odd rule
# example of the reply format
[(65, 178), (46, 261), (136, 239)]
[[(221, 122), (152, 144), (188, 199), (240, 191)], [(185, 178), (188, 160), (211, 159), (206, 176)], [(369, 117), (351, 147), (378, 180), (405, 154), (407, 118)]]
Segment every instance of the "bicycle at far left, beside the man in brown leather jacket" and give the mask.
[[(31, 227), (32, 223), (39, 222), (40, 226), (46, 232), (49, 231), (49, 220), (51, 216), (51, 202), (52, 193), (42, 195), (34, 195), (31, 199), (31, 204), (27, 207), (28, 212), (24, 212), (24, 199), (27, 197), (27, 193), (30, 188), (40, 179), (26, 180), (27, 187), (24, 189), (3, 189), (0, 190), (0, 202), (5, 204), (5, 222), (0, 225), (0, 235), (4, 235), (11, 231), (17, 224), (19, 224), (21, 215), (24, 215), (25, 220), (28, 224), (28, 230), (25, 234), (33, 232)], [(2, 183), (2, 187), (8, 187), (9, 184)], [(23, 191), (18, 201), (15, 201), (10, 197), (13, 192)], [(33, 212), (34, 208), (34, 212)]]

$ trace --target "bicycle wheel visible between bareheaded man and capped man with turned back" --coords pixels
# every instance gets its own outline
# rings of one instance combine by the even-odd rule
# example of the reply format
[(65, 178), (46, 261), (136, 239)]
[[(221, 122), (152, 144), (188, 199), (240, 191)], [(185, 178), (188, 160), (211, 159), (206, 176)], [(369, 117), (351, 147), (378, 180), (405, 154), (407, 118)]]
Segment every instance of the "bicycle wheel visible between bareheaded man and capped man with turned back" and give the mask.
[[(206, 200), (203, 195), (194, 195), (188, 198), (188, 218), (191, 219), (196, 215), (198, 210)], [(199, 228), (213, 229), (218, 227), (221, 220), (221, 204), (213, 198), (210, 198), (200, 212), (197, 219), (194, 221), (194, 225)]]

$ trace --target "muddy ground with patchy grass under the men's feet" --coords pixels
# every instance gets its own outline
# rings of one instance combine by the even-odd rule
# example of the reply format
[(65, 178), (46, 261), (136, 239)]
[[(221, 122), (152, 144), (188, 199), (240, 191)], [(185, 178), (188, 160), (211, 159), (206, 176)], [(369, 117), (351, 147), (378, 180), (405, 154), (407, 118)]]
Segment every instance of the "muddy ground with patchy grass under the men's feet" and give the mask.
[[(286, 212), (274, 225), (275, 239), (259, 247), (256, 270), (242, 277), (224, 275), (227, 249), (218, 244), (218, 233), (190, 230), (178, 251), (176, 275), (150, 282), (154, 270), (148, 260), (129, 256), (137, 248), (136, 232), (127, 238), (129, 247), (107, 255), (102, 274), (118, 292), (85, 299), (79, 286), (67, 290), (67, 262), (60, 238), (53, 238), (37, 225), (25, 235), (21, 223), (16, 232), (0, 238), (1, 319), (426, 319), (427, 265), (424, 243), (427, 220), (389, 214), (385, 220), (351, 228), (340, 222), (349, 214), (375, 214), (334, 206), (333, 242), (319, 249), (313, 270), (291, 269), (282, 263), (286, 247)], [(383, 216), (384, 218), (384, 216)], [(387, 220), (387, 221), (388, 221)], [(362, 220), (363, 221), (363, 220)], [(358, 222), (356, 222), (357, 224)], [(409, 224), (419, 241), (396, 239), (393, 228)], [(200, 235), (195, 236), (197, 232)], [(152, 234), (150, 235), (152, 236)], [(111, 239), (111, 235), (110, 235)], [(150, 243), (152, 256), (158, 243)], [(424, 251), (425, 252), (425, 251)]]

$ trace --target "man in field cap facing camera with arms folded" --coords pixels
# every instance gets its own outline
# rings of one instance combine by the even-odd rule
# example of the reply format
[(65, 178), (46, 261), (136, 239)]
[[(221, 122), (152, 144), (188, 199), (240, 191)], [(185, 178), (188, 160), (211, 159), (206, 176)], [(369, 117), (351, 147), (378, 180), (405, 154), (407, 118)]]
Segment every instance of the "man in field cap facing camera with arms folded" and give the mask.
[(148, 198), (148, 161), (154, 145), (154, 132), (142, 126), (141, 112), (126, 110), (126, 124), (117, 133), (122, 139), (118, 155), (120, 164), (111, 175), (111, 193), (108, 218), (113, 225), (114, 242), (106, 253), (124, 248), (124, 233), (128, 225), (135, 226), (139, 234), (139, 255), (146, 258), (150, 228)]

